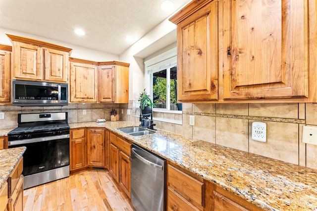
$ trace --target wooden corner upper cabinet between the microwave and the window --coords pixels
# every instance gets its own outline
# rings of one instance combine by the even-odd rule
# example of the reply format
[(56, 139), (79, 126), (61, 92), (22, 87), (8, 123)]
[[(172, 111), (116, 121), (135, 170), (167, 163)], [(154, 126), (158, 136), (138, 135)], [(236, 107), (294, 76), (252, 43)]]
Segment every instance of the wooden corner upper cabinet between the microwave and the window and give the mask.
[(69, 58), (70, 101), (128, 103), (129, 64)]

